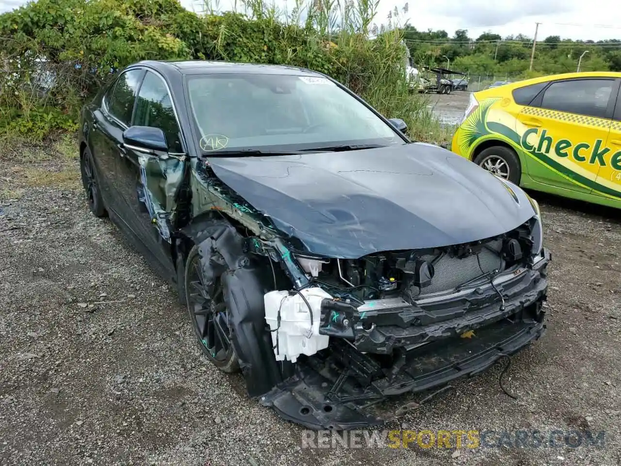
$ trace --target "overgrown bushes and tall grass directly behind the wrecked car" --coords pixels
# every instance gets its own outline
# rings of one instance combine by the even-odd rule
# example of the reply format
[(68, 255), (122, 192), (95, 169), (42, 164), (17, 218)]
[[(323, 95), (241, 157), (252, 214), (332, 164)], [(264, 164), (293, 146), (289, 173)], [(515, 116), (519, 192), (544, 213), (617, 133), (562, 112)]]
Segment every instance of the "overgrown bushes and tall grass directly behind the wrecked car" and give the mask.
[(199, 15), (178, 0), (31, 2), (0, 15), (0, 133), (42, 139), (76, 129), (84, 99), (130, 63), (207, 59), (321, 71), (428, 139), (437, 124), (424, 98), (408, 92), (402, 31), (369, 39), (378, 3), (299, 0), (278, 11), (242, 0), (243, 12), (207, 4)]

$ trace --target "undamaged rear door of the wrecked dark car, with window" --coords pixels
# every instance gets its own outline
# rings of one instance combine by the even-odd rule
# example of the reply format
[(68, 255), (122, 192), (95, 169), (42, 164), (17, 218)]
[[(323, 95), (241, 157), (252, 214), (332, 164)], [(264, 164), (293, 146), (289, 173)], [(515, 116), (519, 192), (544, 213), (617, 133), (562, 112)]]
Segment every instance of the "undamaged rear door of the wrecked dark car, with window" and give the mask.
[(93, 112), (91, 143), (97, 171), (101, 176), (101, 191), (106, 208), (116, 219), (129, 226), (127, 211), (120, 199), (119, 158), (122, 156), (123, 131), (132, 121), (138, 85), (145, 70), (124, 71), (102, 99), (101, 107)]

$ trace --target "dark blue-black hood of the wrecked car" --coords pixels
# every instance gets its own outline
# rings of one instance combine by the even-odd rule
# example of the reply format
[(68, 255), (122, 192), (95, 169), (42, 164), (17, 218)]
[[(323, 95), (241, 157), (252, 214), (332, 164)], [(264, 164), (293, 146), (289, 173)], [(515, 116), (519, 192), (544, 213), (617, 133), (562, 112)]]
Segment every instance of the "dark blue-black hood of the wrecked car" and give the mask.
[(207, 161), (279, 230), (325, 257), (462, 244), (535, 214), (520, 188), (430, 144)]

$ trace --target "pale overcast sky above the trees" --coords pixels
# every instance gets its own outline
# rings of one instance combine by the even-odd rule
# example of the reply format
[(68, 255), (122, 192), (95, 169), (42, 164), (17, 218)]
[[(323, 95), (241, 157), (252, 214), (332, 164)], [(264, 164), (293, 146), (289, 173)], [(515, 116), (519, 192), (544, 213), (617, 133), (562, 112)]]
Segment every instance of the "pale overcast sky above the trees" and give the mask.
[[(233, 1), (220, 0), (220, 9), (230, 9)], [(294, 0), (276, 2), (294, 6)], [(375, 22), (386, 23), (388, 12), (395, 6), (401, 9), (405, 3), (380, 0)], [(22, 4), (24, 0), (0, 0), (0, 12)], [(181, 4), (196, 11), (202, 9), (200, 0), (181, 0)], [(585, 40), (621, 39), (620, 0), (410, 0), (409, 12), (401, 17), (402, 23), (406, 20), (419, 30), (445, 29), (450, 35), (456, 29), (468, 29), (474, 39), (487, 30), (502, 37), (510, 34), (532, 37), (535, 22), (542, 23), (540, 39), (548, 35)]]

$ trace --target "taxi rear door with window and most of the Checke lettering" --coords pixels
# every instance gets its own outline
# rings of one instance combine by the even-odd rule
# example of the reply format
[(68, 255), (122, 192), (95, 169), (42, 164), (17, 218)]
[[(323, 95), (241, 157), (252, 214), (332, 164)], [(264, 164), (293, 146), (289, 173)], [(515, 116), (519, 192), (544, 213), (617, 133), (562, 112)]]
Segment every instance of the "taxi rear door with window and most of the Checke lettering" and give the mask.
[[(517, 117), (528, 175), (538, 183), (591, 193), (606, 150), (619, 82), (615, 78), (552, 81)], [(620, 147), (621, 150), (621, 147)]]

